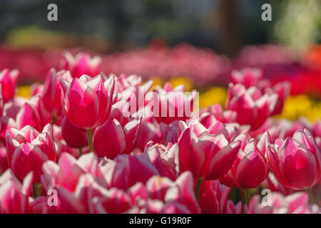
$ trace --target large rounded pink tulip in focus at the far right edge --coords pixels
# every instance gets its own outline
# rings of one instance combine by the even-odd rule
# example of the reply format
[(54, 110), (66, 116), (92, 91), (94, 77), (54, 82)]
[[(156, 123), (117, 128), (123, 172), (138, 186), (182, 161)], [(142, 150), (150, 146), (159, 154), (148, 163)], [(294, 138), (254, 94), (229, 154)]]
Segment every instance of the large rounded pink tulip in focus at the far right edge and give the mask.
[(320, 149), (307, 129), (297, 130), (292, 138), (277, 139), (275, 145), (267, 147), (267, 158), (285, 187), (305, 190), (320, 180)]

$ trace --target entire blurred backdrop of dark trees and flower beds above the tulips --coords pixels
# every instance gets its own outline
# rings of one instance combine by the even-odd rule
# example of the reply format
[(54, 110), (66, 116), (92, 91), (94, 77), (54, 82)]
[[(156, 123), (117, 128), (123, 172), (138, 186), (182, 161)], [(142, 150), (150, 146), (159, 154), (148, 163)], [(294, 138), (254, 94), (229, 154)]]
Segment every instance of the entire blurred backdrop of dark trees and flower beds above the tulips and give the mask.
[[(51, 3), (58, 21), (47, 19)], [(261, 19), (266, 3), (272, 21)], [(272, 83), (290, 81), (290, 102), (314, 120), (320, 28), (320, 0), (1, 0), (0, 70), (18, 68), (29, 85), (58, 68), (63, 51), (87, 51), (101, 56), (103, 73), (198, 88), (205, 107), (224, 102), (231, 71), (258, 67)], [(287, 118), (303, 112), (288, 106)]]

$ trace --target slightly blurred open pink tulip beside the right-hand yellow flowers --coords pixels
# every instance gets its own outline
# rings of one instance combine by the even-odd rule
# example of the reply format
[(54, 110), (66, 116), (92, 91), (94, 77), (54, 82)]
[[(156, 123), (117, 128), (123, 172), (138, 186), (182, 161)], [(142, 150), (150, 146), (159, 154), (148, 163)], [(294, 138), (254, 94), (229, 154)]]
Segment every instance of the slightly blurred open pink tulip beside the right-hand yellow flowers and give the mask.
[(230, 84), (228, 95), (227, 110), (238, 113), (237, 122), (240, 125), (250, 125), (251, 130), (257, 130), (265, 123), (277, 102), (277, 94), (263, 95), (258, 88), (246, 89), (241, 84)]

